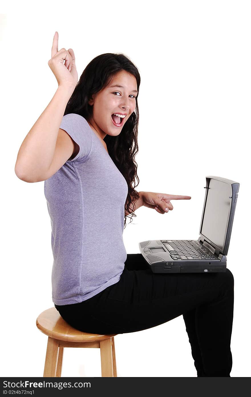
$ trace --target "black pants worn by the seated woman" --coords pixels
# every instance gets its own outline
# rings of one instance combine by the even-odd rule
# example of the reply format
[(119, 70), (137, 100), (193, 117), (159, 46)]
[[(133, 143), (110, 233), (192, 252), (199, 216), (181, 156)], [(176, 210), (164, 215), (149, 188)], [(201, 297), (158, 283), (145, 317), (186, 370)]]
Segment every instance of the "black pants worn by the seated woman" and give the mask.
[(128, 254), (116, 284), (81, 303), (55, 305), (77, 330), (127, 333), (183, 315), (197, 376), (230, 377), (233, 275), (154, 274), (141, 254)]

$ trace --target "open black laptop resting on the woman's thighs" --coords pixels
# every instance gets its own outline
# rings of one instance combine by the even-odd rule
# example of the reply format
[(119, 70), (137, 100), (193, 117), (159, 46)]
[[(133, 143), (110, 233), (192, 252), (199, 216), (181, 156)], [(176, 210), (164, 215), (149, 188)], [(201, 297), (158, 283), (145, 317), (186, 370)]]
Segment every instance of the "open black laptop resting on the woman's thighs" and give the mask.
[(206, 176), (197, 240), (147, 240), (140, 253), (154, 273), (226, 272), (239, 183)]

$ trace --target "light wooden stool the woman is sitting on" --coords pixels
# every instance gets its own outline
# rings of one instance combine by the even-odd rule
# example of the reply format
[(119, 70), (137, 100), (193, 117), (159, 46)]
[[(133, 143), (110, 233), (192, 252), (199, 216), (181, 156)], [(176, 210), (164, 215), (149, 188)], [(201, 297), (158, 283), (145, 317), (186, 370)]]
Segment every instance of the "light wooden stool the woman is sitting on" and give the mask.
[(60, 377), (64, 347), (97, 347), (101, 355), (102, 377), (117, 377), (114, 336), (86, 333), (72, 328), (55, 307), (39, 314), (37, 328), (48, 335), (44, 377)]

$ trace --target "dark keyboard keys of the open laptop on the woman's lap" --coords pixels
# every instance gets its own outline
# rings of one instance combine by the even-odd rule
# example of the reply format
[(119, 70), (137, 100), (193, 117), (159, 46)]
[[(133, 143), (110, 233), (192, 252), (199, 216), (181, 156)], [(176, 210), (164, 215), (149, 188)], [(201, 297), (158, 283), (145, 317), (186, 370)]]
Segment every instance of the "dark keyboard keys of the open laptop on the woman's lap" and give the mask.
[(160, 240), (173, 260), (217, 260), (209, 250), (202, 251), (197, 240)]

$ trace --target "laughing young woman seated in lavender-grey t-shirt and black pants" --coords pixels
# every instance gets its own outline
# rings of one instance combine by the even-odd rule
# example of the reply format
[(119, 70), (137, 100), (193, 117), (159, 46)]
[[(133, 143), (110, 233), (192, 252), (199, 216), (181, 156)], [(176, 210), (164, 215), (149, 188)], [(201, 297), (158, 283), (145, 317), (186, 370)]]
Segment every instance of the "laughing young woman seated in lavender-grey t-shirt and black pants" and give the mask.
[[(65, 60), (65, 63), (64, 63)], [(123, 54), (94, 58), (78, 81), (71, 48), (48, 62), (53, 99), (25, 137), (15, 172), (45, 181), (54, 256), (52, 299), (74, 328), (145, 330), (183, 315), (197, 376), (230, 377), (233, 275), (154, 274), (126, 254), (126, 216), (144, 205), (164, 214), (190, 196), (137, 192), (138, 69)]]

